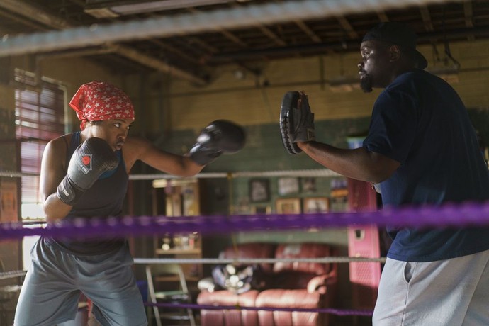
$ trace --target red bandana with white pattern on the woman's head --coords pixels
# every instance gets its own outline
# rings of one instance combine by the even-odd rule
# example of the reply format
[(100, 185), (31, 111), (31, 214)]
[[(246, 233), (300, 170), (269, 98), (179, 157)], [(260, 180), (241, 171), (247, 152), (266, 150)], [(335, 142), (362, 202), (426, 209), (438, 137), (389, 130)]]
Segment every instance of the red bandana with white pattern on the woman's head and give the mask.
[(129, 97), (116, 86), (103, 81), (81, 85), (69, 106), (77, 112), (81, 130), (90, 121), (134, 120), (134, 107)]

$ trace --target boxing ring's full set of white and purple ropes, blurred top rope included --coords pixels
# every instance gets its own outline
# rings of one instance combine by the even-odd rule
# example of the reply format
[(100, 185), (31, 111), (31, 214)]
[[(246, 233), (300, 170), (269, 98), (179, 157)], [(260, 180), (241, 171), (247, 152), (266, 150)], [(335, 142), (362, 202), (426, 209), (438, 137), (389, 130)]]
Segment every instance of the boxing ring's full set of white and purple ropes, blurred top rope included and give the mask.
[[(375, 11), (382, 9), (402, 8), (410, 5), (442, 3), (444, 0), (373, 0), (364, 1), (358, 6), (357, 0), (305, 0), (288, 1), (282, 4), (249, 6), (231, 10), (193, 13), (174, 18), (148, 18), (141, 21), (112, 23), (107, 26), (89, 26), (69, 28), (67, 30), (19, 35), (0, 40), (0, 57), (23, 55), (33, 52), (63, 50), (67, 48), (101, 45), (107, 42), (123, 42), (150, 36), (170, 36), (182, 33), (196, 33), (215, 28), (239, 28), (249, 26), (250, 21), (269, 25), (291, 18), (322, 18), (342, 13)], [(21, 172), (0, 171), (0, 177), (19, 178), (35, 176)], [(199, 174), (197, 178), (242, 177), (275, 177), (275, 176), (313, 176), (335, 177), (335, 172), (327, 169), (304, 171), (275, 172), (235, 172)], [(164, 174), (138, 174), (130, 180), (179, 179)], [(16, 241), (23, 237), (143, 237), (162, 235), (163, 233), (179, 234), (198, 232), (201, 235), (230, 234), (233, 232), (256, 232), (269, 230), (308, 230), (349, 227), (352, 225), (387, 225), (405, 227), (465, 227), (489, 224), (489, 203), (459, 203), (444, 206), (406, 206), (400, 208), (383, 208), (359, 212), (332, 212), (308, 214), (258, 214), (258, 215), (197, 215), (181, 216), (178, 219), (166, 216), (130, 216), (121, 218), (78, 219), (72, 223), (60, 221), (52, 225), (43, 223), (1, 223), (0, 241)], [(317, 262), (349, 264), (354, 262), (385, 262), (385, 257), (322, 257), (315, 259), (163, 259), (135, 258), (135, 264), (259, 264), (274, 262)], [(23, 277), (26, 271), (0, 271), (0, 279)], [(275, 310), (316, 312), (331, 315), (369, 316), (371, 310), (355, 309), (305, 309), (279, 307), (245, 307), (236, 305), (197, 305), (146, 303), (148, 306), (161, 308), (190, 308), (192, 310)]]

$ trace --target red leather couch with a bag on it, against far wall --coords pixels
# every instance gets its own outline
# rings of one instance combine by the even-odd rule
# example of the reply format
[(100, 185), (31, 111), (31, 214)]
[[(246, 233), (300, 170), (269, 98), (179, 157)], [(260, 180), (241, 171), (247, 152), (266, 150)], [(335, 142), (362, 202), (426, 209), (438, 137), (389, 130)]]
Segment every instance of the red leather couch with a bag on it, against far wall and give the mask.
[[(320, 258), (334, 255), (327, 244), (245, 243), (229, 247), (223, 258)], [(200, 305), (239, 305), (270, 308), (328, 308), (335, 303), (337, 264), (275, 262), (261, 264), (266, 289), (235, 294), (227, 290), (201, 291)], [(330, 315), (315, 312), (269, 310), (201, 310), (202, 326), (329, 325)]]

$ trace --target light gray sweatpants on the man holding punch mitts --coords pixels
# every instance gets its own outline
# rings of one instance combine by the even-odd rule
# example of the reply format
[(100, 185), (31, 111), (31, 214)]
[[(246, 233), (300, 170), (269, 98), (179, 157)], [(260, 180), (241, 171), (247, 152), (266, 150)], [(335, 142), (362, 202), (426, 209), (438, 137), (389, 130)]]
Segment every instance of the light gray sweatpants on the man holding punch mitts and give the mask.
[(373, 325), (489, 325), (489, 250), (437, 262), (387, 259)]

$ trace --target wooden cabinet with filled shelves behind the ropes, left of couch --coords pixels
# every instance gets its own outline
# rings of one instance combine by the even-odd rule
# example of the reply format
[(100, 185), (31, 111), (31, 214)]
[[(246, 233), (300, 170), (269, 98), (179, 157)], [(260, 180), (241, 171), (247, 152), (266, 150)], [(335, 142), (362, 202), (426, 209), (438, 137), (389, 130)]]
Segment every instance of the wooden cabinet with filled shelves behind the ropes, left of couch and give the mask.
[[(179, 218), (201, 213), (198, 179), (153, 181), (153, 214)], [(162, 208), (164, 208), (162, 210)], [(197, 232), (157, 235), (153, 240), (154, 257), (202, 258), (202, 240)], [(202, 264), (181, 264), (187, 281), (203, 277)]]

